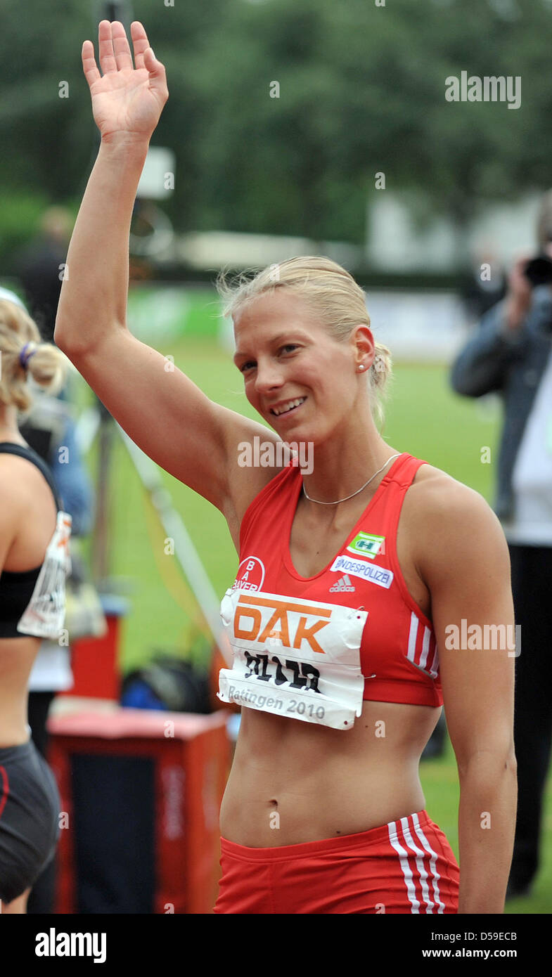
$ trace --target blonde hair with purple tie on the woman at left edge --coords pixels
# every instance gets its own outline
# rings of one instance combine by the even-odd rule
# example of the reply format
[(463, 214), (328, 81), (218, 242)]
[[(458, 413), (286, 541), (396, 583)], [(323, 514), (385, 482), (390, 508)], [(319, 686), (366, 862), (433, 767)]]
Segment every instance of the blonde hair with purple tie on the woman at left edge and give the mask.
[[(21, 365), (25, 350), (26, 366)], [(32, 353), (32, 356), (29, 354)], [(26, 413), (32, 406), (27, 374), (39, 387), (57, 394), (64, 384), (66, 359), (52, 343), (43, 343), (35, 322), (15, 302), (0, 298), (0, 404)]]

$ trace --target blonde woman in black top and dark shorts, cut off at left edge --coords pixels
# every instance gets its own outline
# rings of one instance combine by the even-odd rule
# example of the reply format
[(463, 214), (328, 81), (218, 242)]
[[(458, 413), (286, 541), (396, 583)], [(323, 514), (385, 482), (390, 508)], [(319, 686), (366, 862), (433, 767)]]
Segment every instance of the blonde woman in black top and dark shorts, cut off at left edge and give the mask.
[(71, 518), (18, 428), (31, 403), (27, 375), (59, 389), (66, 361), (6, 289), (0, 360), (0, 900), (2, 913), (24, 913), (59, 836), (54, 775), (29, 739), (27, 684), (42, 638), (61, 637)]

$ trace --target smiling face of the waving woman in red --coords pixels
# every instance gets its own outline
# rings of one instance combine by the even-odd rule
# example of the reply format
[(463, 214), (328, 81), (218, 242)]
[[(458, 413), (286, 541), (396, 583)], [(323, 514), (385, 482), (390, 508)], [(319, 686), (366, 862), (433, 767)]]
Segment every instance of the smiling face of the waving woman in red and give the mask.
[(283, 441), (319, 443), (350, 418), (356, 344), (333, 339), (298, 296), (285, 289), (257, 296), (236, 315), (234, 336), (247, 400)]

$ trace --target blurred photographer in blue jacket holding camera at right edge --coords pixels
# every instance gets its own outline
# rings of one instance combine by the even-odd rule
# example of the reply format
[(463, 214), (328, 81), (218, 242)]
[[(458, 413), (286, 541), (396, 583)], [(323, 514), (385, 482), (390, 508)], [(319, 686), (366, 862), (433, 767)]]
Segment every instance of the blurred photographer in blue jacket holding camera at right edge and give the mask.
[(538, 870), (552, 740), (552, 191), (543, 198), (537, 236), (538, 254), (515, 263), (504, 299), (481, 319), (450, 374), (456, 393), (498, 392), (504, 404), (494, 511), (508, 540), (522, 639), (514, 715), (518, 816), (507, 898), (529, 895)]

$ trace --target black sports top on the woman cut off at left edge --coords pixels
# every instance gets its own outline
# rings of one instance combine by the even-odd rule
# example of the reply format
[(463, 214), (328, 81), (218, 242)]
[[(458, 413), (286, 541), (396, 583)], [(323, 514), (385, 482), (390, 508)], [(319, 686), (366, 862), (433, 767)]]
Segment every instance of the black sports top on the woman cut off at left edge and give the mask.
[[(16, 445), (9, 441), (0, 442), (0, 452), (19, 454), (21, 458), (26, 458), (36, 465), (52, 489), (57, 510), (60, 512), (62, 509), (60, 497), (48, 466), (40, 455), (32, 447)], [(21, 631), (18, 631), (18, 622), (32, 597), (43, 564), (44, 561), (32, 570), (24, 570), (19, 573), (9, 570), (0, 571), (0, 638), (27, 637), (26, 634), (21, 634)]]

